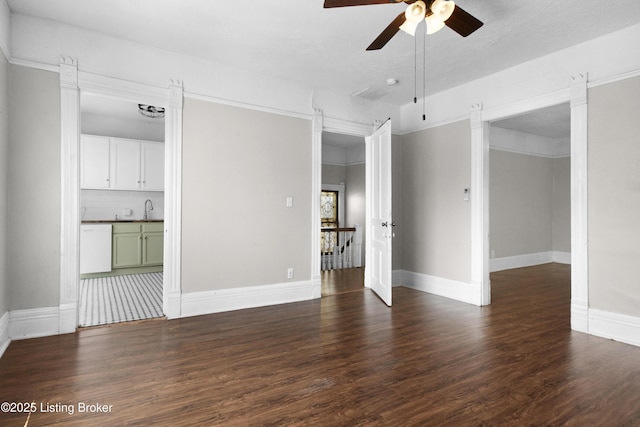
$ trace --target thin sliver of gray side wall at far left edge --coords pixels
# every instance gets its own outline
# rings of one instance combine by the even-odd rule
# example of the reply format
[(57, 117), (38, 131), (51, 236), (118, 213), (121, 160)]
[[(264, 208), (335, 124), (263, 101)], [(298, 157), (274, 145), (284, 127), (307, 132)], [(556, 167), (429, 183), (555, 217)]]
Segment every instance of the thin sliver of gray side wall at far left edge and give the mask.
[(9, 64), (0, 52), (0, 317), (9, 310), (7, 285), (7, 169), (9, 167)]

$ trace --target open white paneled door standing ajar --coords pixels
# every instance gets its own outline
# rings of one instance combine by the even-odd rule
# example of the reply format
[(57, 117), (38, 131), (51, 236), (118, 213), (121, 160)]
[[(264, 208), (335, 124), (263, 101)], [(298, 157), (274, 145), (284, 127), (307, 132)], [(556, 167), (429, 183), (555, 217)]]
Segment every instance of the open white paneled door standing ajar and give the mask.
[(364, 283), (391, 306), (391, 120), (365, 142), (368, 244)]

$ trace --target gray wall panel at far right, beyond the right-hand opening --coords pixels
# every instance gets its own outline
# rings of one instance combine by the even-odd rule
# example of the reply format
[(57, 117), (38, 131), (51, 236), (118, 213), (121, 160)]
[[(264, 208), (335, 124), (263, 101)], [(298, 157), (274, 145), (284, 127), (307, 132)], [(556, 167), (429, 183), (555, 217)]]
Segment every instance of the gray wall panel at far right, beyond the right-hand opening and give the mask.
[(640, 78), (589, 90), (589, 306), (640, 316)]

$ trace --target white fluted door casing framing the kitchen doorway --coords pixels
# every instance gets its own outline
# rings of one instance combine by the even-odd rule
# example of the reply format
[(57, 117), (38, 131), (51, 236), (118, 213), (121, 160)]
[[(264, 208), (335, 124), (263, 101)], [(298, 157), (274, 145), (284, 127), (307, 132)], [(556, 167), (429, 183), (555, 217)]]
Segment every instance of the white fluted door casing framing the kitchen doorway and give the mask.
[[(75, 59), (63, 58), (60, 65), (61, 82), (65, 66), (75, 66)], [(66, 62), (68, 64), (66, 64)], [(65, 65), (66, 64), (66, 65)], [(163, 280), (163, 310), (167, 318), (180, 317), (180, 263), (181, 263), (181, 188), (182, 188), (182, 82), (171, 80), (167, 88), (158, 88), (142, 83), (131, 82), (98, 74), (77, 71), (76, 91), (79, 88), (82, 94), (95, 94), (98, 96), (124, 99), (136, 103), (143, 102), (151, 105), (163, 106), (167, 109), (167, 119), (165, 120), (165, 275)], [(66, 90), (62, 87), (61, 90)], [(72, 111), (77, 108), (77, 111)], [(78, 139), (79, 139), (79, 99), (76, 103), (64, 102), (62, 104), (62, 225), (63, 233), (70, 237), (62, 237), (61, 261), (61, 294), (60, 294), (60, 325), (62, 332), (72, 332), (77, 325), (77, 297), (78, 297), (78, 274), (77, 264), (79, 260), (79, 249), (77, 235), (79, 228), (79, 188), (78, 177), (79, 160)], [(74, 135), (72, 118), (77, 115), (76, 140), (72, 141)], [(69, 159), (65, 159), (65, 152), (75, 153)], [(64, 189), (68, 188), (68, 194), (64, 194)], [(78, 194), (77, 198), (75, 194)], [(76, 203), (76, 204), (74, 204)], [(75, 237), (70, 230), (75, 230)], [(75, 239), (75, 240), (74, 240)], [(72, 242), (76, 243), (73, 244)], [(74, 273), (75, 271), (75, 273)], [(74, 314), (71, 314), (71, 311)], [(73, 329), (70, 329), (70, 319), (75, 317)]]

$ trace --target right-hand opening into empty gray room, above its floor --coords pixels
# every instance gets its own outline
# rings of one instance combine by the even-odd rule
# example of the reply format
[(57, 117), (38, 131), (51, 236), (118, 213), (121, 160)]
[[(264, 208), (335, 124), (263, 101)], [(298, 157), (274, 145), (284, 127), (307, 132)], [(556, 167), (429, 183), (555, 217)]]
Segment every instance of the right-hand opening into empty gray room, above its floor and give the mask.
[(490, 272), (571, 264), (571, 109), (490, 124)]

